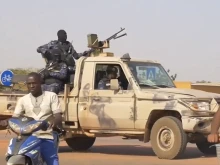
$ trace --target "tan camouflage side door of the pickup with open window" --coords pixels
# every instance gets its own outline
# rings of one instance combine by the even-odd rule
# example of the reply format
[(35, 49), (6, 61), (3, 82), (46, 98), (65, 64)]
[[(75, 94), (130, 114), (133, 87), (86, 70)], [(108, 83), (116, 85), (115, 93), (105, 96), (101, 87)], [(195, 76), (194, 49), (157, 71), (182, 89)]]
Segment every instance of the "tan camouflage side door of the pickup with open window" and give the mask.
[[(134, 91), (128, 90), (128, 79), (118, 63), (93, 63), (92, 77), (87, 77), (89, 85), (87, 93), (88, 102), (79, 112), (79, 121), (86, 129), (134, 129)], [(99, 90), (98, 82), (106, 76), (106, 68), (113, 65), (118, 68), (119, 80), (124, 89), (115, 92), (110, 89)], [(85, 65), (86, 66), (86, 65)], [(85, 68), (84, 68), (85, 69)], [(86, 89), (86, 88), (85, 88)]]

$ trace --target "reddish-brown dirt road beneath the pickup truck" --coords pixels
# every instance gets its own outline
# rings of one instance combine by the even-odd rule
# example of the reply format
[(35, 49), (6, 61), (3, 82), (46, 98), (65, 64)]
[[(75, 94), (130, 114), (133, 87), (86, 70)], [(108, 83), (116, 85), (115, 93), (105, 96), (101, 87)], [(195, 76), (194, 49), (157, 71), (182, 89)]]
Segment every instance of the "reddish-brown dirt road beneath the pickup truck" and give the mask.
[[(4, 155), (10, 135), (0, 132), (0, 162), (5, 164)], [(137, 140), (122, 140), (115, 138), (98, 138), (94, 146), (87, 152), (72, 152), (65, 142), (61, 143), (61, 165), (217, 165), (216, 157), (203, 157), (194, 145), (188, 145), (181, 160), (160, 160), (153, 153), (150, 144), (143, 144)]]

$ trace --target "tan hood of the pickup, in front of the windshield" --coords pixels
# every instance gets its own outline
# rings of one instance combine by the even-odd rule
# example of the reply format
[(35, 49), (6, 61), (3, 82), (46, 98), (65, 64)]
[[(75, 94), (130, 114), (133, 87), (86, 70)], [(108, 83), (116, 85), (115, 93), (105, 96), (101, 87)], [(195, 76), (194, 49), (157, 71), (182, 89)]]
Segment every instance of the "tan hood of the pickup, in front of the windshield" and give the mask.
[[(174, 98), (220, 98), (220, 94), (205, 92), (202, 90), (196, 89), (179, 89), (179, 88), (159, 88), (159, 89), (151, 89), (152, 91), (165, 95), (173, 95)], [(147, 92), (149, 90), (143, 90)]]

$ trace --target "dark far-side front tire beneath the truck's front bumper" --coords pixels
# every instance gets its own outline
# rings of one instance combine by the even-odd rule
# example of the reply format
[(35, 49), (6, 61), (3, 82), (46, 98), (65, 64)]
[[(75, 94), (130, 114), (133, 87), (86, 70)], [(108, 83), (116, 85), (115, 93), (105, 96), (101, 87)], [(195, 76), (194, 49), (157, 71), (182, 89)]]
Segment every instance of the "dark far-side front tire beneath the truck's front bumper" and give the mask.
[(196, 146), (199, 149), (199, 151), (205, 155), (216, 155), (216, 147), (212, 145), (215, 145), (215, 144), (209, 143), (207, 140), (204, 142), (196, 143)]

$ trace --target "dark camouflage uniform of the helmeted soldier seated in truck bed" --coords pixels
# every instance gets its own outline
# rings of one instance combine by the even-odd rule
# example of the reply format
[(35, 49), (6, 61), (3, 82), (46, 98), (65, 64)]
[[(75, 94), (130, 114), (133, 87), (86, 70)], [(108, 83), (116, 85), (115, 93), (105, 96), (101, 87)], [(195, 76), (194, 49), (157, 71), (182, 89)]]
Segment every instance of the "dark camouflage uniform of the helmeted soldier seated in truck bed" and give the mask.
[(51, 91), (58, 94), (64, 90), (65, 80), (67, 79), (68, 68), (63, 62), (57, 64), (57, 66), (47, 74), (42, 74), (44, 84), (42, 85), (43, 91)]

